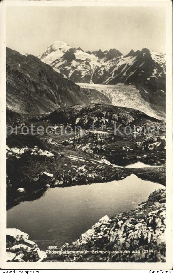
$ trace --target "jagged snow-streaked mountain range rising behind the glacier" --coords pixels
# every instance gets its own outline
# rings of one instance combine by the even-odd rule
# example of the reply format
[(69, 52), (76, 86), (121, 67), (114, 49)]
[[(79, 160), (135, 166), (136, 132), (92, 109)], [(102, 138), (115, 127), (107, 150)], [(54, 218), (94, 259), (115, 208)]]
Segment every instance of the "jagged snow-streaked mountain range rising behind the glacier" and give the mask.
[[(56, 41), (39, 58), (74, 82), (133, 84), (142, 97), (141, 102), (147, 102), (158, 116), (165, 116), (165, 54), (147, 48), (136, 52), (131, 50), (124, 56), (116, 49), (84, 52), (81, 48), (72, 48)], [(120, 100), (125, 99), (123, 95), (120, 97)], [(129, 99), (132, 99), (131, 95), (128, 96), (127, 100)], [(142, 104), (143, 102), (136, 105)], [(123, 106), (122, 102), (118, 105)]]

